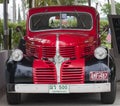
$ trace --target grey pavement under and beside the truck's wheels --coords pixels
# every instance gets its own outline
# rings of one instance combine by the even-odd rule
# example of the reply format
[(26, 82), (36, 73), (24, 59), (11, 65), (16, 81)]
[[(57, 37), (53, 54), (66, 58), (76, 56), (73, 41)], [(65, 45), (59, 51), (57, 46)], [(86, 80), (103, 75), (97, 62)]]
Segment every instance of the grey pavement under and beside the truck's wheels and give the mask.
[[(18, 106), (106, 106), (101, 104), (99, 94), (74, 94), (74, 95), (48, 95), (48, 94), (24, 94), (22, 103)], [(120, 106), (120, 82), (117, 83), (116, 101), (112, 105)], [(9, 106), (6, 95), (0, 98), (0, 106)]]

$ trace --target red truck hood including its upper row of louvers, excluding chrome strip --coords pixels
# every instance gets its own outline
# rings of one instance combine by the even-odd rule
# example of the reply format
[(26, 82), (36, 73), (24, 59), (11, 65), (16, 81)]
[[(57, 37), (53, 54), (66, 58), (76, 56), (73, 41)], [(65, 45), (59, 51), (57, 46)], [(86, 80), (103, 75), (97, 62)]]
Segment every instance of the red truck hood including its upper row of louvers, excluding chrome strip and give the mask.
[[(55, 47), (58, 47), (58, 44), (61, 56), (69, 58), (79, 58), (85, 55), (91, 55), (97, 47), (97, 40), (95, 39), (95, 36), (82, 33), (80, 34), (77, 32), (45, 33), (35, 35), (33, 38), (28, 37), (28, 39), (27, 54), (33, 53), (32, 55), (38, 56), (39, 58), (54, 57), (56, 53)], [(30, 46), (29, 43), (31, 44)], [(36, 48), (37, 52), (31, 51), (33, 48)]]

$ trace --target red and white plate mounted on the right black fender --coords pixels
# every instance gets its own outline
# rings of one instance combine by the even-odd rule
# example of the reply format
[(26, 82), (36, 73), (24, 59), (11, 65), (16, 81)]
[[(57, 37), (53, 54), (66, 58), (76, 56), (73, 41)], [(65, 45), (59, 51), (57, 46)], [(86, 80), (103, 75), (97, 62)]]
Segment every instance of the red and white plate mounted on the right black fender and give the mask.
[(90, 72), (90, 81), (107, 81), (108, 72), (106, 71), (92, 71)]

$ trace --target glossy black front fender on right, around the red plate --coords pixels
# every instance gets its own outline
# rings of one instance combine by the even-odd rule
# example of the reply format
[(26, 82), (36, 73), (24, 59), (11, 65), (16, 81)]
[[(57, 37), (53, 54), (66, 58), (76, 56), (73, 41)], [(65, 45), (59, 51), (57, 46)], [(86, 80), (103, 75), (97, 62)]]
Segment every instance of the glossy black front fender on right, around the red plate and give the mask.
[(91, 60), (86, 60), (85, 64), (86, 64), (85, 65), (85, 81), (86, 82), (90, 82), (91, 71), (109, 72), (109, 82), (113, 81), (116, 77), (115, 62), (112, 56), (110, 55), (104, 60), (97, 60), (96, 58), (93, 57)]

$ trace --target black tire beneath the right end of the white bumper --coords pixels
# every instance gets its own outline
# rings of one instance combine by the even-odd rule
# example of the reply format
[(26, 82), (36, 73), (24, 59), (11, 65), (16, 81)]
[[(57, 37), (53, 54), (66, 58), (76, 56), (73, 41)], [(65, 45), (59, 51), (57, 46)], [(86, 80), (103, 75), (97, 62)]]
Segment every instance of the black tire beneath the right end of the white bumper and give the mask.
[(101, 93), (101, 102), (104, 104), (113, 104), (116, 98), (116, 80), (111, 82), (111, 91)]

